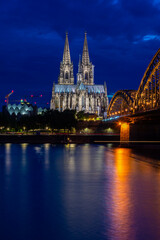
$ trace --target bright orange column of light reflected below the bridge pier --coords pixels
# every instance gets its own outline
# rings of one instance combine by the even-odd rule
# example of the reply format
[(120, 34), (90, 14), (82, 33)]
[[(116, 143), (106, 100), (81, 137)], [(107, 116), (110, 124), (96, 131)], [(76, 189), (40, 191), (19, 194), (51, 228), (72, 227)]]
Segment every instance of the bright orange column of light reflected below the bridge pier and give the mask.
[[(130, 149), (118, 148), (114, 151), (114, 172), (112, 175), (111, 208), (109, 229), (113, 239), (135, 239), (132, 232), (132, 199), (129, 174), (131, 171)], [(108, 194), (108, 192), (107, 192)], [(108, 208), (108, 201), (106, 202)]]

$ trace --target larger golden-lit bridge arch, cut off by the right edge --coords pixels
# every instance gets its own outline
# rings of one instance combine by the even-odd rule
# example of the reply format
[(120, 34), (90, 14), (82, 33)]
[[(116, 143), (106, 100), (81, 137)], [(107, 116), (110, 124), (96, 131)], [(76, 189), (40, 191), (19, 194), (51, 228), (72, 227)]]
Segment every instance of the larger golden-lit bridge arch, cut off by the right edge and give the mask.
[(133, 103), (133, 112), (145, 112), (160, 107), (160, 49), (148, 65)]

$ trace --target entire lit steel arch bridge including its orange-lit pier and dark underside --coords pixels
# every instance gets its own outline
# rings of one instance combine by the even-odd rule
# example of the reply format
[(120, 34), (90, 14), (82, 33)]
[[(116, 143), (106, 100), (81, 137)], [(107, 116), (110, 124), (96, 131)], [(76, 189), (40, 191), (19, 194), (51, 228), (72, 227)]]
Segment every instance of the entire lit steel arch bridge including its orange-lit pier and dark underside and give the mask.
[(117, 91), (107, 121), (120, 125), (120, 142), (160, 143), (160, 49), (152, 58), (138, 90)]

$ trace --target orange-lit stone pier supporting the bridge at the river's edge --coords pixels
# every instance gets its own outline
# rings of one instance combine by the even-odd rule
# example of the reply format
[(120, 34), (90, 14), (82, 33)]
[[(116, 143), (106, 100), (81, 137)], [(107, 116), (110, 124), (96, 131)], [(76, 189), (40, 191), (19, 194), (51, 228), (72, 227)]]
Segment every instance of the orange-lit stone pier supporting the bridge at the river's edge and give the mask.
[(130, 141), (130, 125), (129, 123), (121, 123), (120, 127), (120, 144), (125, 146)]

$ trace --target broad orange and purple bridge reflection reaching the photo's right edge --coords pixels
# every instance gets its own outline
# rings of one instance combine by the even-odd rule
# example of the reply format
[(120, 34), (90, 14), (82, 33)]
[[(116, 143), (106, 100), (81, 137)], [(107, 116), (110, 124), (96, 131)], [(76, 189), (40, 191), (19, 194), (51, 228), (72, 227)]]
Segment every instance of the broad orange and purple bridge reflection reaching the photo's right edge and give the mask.
[(153, 159), (133, 154), (131, 149), (106, 151), (107, 236), (113, 240), (159, 239), (159, 173)]

